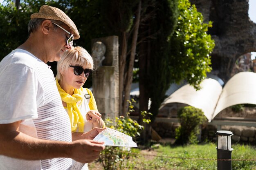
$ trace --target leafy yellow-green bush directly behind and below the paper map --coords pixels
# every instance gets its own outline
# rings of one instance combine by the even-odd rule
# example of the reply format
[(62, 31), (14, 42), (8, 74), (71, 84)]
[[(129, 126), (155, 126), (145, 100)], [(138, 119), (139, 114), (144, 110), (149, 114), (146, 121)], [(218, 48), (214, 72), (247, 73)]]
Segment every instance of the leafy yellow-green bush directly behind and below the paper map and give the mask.
[[(135, 102), (132, 99), (132, 102), (129, 102), (129, 112), (127, 113), (126, 117), (119, 116), (116, 117), (115, 120), (110, 118), (105, 119), (106, 127), (118, 130), (119, 132), (123, 132), (126, 135), (129, 135), (133, 138), (134, 141), (135, 137), (140, 136), (139, 131), (144, 129), (144, 126), (138, 124), (136, 120), (133, 120), (129, 117), (130, 112), (133, 111), (132, 102)], [(146, 111), (141, 112), (141, 115), (145, 117), (147, 114)], [(149, 123), (149, 119), (143, 119), (144, 123)], [(121, 170), (126, 165), (124, 165), (125, 160), (130, 157), (130, 153), (132, 151), (128, 147), (115, 147), (115, 146), (106, 146), (105, 150), (101, 152), (99, 157), (99, 161), (104, 167), (104, 170)]]

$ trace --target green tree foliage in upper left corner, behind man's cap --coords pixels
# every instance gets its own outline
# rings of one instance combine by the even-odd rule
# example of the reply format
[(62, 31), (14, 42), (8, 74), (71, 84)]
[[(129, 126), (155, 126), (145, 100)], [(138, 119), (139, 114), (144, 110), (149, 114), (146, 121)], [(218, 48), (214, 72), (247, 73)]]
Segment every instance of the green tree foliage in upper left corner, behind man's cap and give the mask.
[(44, 4), (60, 7), (54, 0), (22, 0), (18, 8), (12, 0), (4, 0), (0, 4), (0, 36), (3, 44), (0, 60), (27, 40), (30, 15), (38, 12)]

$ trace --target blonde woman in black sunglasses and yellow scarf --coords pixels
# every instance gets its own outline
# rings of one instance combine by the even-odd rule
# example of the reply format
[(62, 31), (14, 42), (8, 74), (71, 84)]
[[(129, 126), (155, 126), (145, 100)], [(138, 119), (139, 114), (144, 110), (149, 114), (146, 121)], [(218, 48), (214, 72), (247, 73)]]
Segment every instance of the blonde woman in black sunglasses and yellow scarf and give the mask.
[[(92, 70), (92, 57), (80, 46), (72, 47), (70, 51), (65, 52), (57, 64), (56, 84), (62, 104), (70, 117), (73, 141), (84, 139), (83, 132), (88, 132), (94, 127), (105, 127), (92, 91), (83, 88)], [(89, 102), (85, 99), (88, 96)], [(87, 164), (85, 166), (83, 170), (88, 169)]]

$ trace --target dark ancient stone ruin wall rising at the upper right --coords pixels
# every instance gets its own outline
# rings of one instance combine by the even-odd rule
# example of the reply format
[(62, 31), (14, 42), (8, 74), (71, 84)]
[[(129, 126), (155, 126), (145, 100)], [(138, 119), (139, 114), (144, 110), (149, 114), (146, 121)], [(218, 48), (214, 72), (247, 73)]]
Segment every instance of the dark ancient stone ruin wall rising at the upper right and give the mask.
[(213, 21), (209, 34), (215, 40), (211, 55), (213, 71), (224, 81), (231, 76), (238, 57), (256, 51), (256, 24), (249, 19), (248, 0), (190, 0), (204, 16)]

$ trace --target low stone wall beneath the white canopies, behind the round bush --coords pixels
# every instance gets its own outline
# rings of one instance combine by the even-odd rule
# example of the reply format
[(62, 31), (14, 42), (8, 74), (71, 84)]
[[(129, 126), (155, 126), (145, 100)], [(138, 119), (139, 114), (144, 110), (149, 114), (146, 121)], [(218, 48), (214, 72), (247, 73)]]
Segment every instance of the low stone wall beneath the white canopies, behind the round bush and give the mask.
[[(167, 107), (159, 110), (158, 117), (173, 117), (177, 118), (177, 110), (180, 107), (188, 106), (181, 103), (169, 104)], [(248, 119), (256, 119), (256, 107), (245, 107), (243, 111), (234, 112), (231, 107), (222, 110), (216, 119), (221, 119), (223, 117), (243, 117)], [(175, 138), (175, 129), (180, 126), (180, 123), (173, 122), (157, 122), (152, 124), (152, 128), (160, 135), (162, 138)], [(233, 132), (232, 136), (233, 142), (245, 142), (250, 144), (256, 144), (256, 127), (247, 126), (222, 126), (222, 130), (229, 130)], [(209, 139), (210, 141), (216, 141), (217, 126), (214, 125), (203, 125), (202, 126), (202, 136), (201, 139)]]

